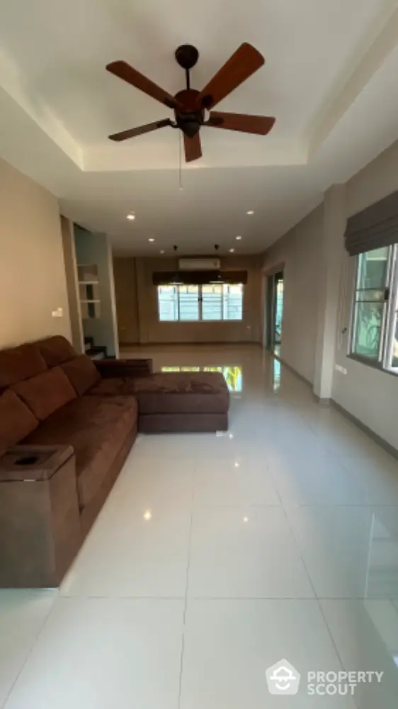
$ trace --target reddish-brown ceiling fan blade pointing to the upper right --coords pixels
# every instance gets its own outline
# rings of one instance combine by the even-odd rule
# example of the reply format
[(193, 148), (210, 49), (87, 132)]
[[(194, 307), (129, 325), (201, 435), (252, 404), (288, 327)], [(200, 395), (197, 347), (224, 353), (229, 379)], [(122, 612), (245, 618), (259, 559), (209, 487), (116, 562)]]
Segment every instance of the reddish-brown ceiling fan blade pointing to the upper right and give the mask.
[(196, 104), (203, 108), (212, 108), (220, 103), (225, 96), (234, 91), (251, 74), (260, 69), (265, 62), (263, 55), (252, 45), (244, 42), (239, 49), (229, 57), (223, 67), (210, 79), (203, 91), (196, 97)]

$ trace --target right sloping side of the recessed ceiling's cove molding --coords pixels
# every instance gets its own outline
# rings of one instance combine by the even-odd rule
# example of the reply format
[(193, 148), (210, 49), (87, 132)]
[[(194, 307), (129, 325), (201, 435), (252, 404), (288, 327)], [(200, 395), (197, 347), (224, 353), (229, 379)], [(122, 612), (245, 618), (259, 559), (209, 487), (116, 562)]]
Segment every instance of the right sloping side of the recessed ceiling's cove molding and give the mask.
[(307, 128), (308, 159), (322, 144), (398, 45), (397, 0), (385, 0), (368, 33), (356, 46), (346, 67)]

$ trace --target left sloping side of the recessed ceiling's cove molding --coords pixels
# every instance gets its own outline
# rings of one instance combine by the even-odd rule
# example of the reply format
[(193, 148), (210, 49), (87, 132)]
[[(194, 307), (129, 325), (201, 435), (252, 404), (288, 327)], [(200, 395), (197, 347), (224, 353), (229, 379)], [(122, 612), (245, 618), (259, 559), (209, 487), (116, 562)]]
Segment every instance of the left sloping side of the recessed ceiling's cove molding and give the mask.
[(30, 96), (16, 62), (0, 49), (0, 86), (11, 99), (48, 135), (77, 167), (83, 169), (83, 151), (39, 96)]

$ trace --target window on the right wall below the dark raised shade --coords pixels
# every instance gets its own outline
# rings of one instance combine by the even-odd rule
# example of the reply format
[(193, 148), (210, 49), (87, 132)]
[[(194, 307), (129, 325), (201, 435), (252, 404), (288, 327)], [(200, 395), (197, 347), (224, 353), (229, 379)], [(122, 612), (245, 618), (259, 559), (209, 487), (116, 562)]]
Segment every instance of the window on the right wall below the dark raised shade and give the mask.
[(351, 354), (398, 372), (397, 245), (358, 256)]

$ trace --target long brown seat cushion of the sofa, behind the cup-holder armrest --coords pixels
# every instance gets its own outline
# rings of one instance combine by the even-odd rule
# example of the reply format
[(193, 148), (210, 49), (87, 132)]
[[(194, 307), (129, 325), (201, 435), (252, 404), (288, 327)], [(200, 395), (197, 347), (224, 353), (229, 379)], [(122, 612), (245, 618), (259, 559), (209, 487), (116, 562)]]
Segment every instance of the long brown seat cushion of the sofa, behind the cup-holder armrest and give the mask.
[(135, 398), (81, 396), (53, 413), (24, 442), (74, 447), (79, 503), (84, 508), (106, 479), (127, 435), (136, 427)]

